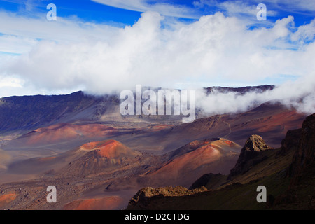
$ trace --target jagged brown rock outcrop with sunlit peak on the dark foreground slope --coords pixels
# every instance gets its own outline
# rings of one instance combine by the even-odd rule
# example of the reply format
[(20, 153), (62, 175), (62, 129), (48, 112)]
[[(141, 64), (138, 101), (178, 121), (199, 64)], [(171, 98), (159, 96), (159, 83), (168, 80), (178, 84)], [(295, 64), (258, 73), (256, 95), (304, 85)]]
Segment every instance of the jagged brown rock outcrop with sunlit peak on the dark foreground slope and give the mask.
[(258, 157), (261, 151), (273, 149), (267, 144), (259, 135), (252, 135), (245, 143), (244, 148), (241, 149), (241, 154), (237, 160), (237, 164), (231, 169), (228, 179), (234, 176), (246, 173), (251, 167), (265, 160), (265, 157)]

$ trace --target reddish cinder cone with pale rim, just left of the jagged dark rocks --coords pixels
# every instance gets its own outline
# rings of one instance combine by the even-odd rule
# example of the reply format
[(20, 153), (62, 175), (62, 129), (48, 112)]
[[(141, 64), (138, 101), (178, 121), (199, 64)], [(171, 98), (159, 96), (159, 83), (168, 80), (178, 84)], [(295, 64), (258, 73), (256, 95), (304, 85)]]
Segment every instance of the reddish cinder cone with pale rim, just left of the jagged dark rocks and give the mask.
[[(185, 149), (184, 149), (185, 148)], [(192, 150), (186, 152), (187, 148)], [(173, 155), (173, 159), (160, 169), (148, 174), (153, 180), (163, 180), (168, 183), (181, 183), (186, 186), (186, 179), (192, 176), (202, 176), (207, 172), (220, 170), (223, 173), (230, 172), (232, 165), (237, 160), (241, 146), (226, 139), (216, 141), (193, 141), (177, 151), (179, 155)]]

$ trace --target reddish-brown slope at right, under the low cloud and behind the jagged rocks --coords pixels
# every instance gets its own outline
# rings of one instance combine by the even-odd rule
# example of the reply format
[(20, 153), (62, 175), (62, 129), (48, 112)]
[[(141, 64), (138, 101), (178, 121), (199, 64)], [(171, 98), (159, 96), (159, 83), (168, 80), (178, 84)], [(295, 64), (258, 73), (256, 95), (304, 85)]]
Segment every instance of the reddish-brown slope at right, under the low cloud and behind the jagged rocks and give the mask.
[(286, 132), (300, 127), (304, 119), (305, 116), (294, 109), (276, 102), (266, 102), (244, 113), (216, 115), (176, 125), (168, 134), (174, 134), (176, 142), (190, 137), (225, 137), (237, 144), (244, 144), (248, 136), (255, 133), (270, 146), (278, 147)]

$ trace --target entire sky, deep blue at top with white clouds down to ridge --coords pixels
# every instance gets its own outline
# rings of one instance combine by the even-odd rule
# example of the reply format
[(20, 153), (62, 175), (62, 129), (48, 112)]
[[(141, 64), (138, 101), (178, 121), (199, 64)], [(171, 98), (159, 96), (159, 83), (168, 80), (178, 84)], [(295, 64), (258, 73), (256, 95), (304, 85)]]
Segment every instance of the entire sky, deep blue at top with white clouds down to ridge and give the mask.
[(314, 0), (0, 0), (0, 97), (267, 84), (262, 101), (296, 90), (311, 111), (314, 15)]

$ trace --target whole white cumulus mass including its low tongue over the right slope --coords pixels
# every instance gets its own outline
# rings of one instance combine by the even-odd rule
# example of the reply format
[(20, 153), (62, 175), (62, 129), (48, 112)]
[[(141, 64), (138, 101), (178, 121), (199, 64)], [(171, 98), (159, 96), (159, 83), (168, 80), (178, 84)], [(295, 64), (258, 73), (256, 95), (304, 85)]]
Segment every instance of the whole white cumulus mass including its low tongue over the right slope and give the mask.
[[(225, 85), (265, 84), (268, 78), (279, 75), (295, 76), (296, 82), (263, 94), (228, 93), (207, 98), (200, 94), (197, 102), (207, 113), (241, 111), (272, 99), (304, 112), (314, 110), (314, 20), (295, 27), (294, 18), (288, 16), (269, 28), (248, 29), (244, 20), (222, 13), (202, 16), (187, 24), (169, 22), (160, 13), (146, 12), (133, 26), (124, 28), (71, 24), (67, 20), (62, 20), (61, 25), (56, 23), (52, 26), (55, 38), (43, 33), (43, 40), (28, 53), (1, 65), (0, 72), (3, 76), (20, 77), (33, 88), (82, 88), (92, 94), (134, 90), (135, 85), (173, 88), (179, 83), (187, 86), (212, 80)], [(64, 33), (59, 32), (62, 30)], [(70, 31), (76, 31), (78, 36)], [(32, 29), (26, 32), (34, 34)], [(80, 36), (87, 33), (86, 38)], [(69, 41), (71, 38), (73, 41)], [(227, 104), (215, 104), (219, 99)], [(211, 102), (216, 105), (212, 111), (207, 107)]]

